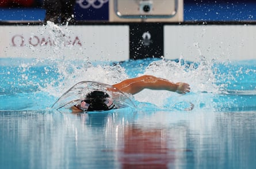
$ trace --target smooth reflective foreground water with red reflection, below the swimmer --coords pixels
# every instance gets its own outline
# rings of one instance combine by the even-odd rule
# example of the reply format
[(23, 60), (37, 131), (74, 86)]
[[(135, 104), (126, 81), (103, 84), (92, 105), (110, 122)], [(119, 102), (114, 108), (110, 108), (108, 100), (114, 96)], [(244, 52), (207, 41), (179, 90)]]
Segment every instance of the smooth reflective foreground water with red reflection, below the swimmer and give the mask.
[(254, 168), (256, 112), (0, 112), (0, 168)]

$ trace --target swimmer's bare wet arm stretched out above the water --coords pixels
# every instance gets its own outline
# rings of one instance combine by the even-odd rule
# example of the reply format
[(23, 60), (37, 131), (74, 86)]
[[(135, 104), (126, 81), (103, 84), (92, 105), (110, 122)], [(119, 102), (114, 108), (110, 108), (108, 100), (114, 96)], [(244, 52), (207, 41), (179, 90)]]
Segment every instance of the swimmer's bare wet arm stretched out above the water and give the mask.
[(143, 89), (168, 90), (180, 94), (188, 93), (190, 91), (188, 83), (173, 83), (167, 79), (156, 78), (151, 75), (143, 75), (137, 78), (127, 79), (123, 82), (114, 84), (113, 86), (125, 93), (131, 94), (139, 93)]

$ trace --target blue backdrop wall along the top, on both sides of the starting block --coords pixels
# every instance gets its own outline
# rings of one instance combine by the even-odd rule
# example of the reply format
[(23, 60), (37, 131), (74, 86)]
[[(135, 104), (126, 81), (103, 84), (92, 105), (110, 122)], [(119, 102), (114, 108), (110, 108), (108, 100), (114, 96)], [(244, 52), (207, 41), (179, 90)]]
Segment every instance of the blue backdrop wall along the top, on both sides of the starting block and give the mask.
[[(45, 10), (42, 0), (35, 0), (33, 7), (1, 7), (0, 21), (43, 21)], [(204, 1), (184, 0), (184, 21), (254, 21), (256, 18), (256, 2), (239, 1)], [(82, 9), (78, 4), (74, 7), (75, 20), (97, 21), (108, 20), (108, 3), (100, 9), (89, 7)]]

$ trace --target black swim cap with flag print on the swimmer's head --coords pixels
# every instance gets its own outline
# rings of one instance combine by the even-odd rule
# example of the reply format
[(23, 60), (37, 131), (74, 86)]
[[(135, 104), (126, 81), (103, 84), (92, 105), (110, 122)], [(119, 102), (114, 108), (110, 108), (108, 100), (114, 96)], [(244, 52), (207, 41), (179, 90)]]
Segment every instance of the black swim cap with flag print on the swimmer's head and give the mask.
[(114, 107), (113, 100), (103, 91), (91, 91), (82, 99), (78, 108), (83, 111), (102, 111), (111, 110)]

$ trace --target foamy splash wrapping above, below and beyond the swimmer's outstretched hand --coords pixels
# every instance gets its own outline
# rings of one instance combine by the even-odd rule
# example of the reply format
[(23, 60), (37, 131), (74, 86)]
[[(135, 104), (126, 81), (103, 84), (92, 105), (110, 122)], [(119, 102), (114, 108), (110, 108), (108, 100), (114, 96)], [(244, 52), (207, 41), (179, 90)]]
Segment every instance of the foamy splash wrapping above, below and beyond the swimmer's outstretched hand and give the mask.
[[(179, 95), (169, 91), (145, 90), (135, 95), (135, 98), (170, 110), (175, 106), (189, 105), (190, 103), (193, 103), (194, 109), (215, 110), (216, 108), (219, 109), (219, 107), (230, 106), (223, 103), (223, 98), (220, 98), (219, 94), (227, 90), (227, 83), (223, 82), (232, 83), (230, 81), (234, 78), (232, 72), (226, 71), (226, 74), (222, 74), (223, 67), (221, 65), (223, 64), (217, 62), (217, 60), (207, 60), (202, 55), (198, 56), (198, 60), (200, 62), (189, 63), (181, 59), (178, 62), (177, 60), (162, 59), (150, 63), (142, 73), (165, 78), (175, 83), (189, 83), (191, 93)], [(228, 63), (226, 64), (229, 65)], [(181, 106), (181, 108), (183, 107)]]

